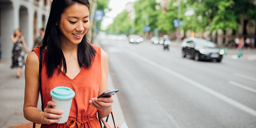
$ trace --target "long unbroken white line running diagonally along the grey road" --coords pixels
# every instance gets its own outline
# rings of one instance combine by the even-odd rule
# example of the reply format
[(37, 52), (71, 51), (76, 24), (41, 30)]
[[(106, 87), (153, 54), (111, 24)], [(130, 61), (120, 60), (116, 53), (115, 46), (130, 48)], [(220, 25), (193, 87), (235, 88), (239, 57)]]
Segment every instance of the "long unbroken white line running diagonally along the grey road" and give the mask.
[(188, 77), (186, 77), (186, 76), (184, 76), (184, 75), (182, 75), (180, 73), (177, 73), (177, 72), (175, 72), (173, 70), (170, 70), (170, 69), (168, 69), (168, 68), (166, 68), (166, 67), (164, 67), (164, 66), (162, 66), (162, 65), (160, 65), (160, 64), (158, 64), (158, 63), (156, 63), (156, 62), (154, 62), (154, 61), (152, 61), (150, 59), (147, 59), (147, 58), (145, 58), (145, 57), (143, 57), (143, 56), (141, 56), (141, 55), (139, 55), (139, 54), (137, 54), (135, 52), (132, 52), (129, 49), (126, 49), (126, 48), (122, 48), (122, 49), (125, 52), (133, 55), (134, 57), (137, 57), (137, 58), (139, 58), (139, 59), (141, 59), (141, 60), (151, 64), (152, 66), (155, 66), (156, 68), (159, 68), (159, 69), (161, 69), (163, 71), (166, 71), (166, 72), (170, 73), (171, 75), (179, 77), (181, 80), (186, 81), (187, 83), (189, 83), (189, 84), (191, 84), (191, 85), (193, 85), (195, 87), (198, 87), (198, 88), (208, 92), (209, 94), (211, 94), (211, 95), (213, 95), (213, 96), (223, 100), (224, 102), (227, 102), (227, 103), (237, 107), (238, 109), (241, 109), (241, 110), (243, 110), (243, 111), (245, 111), (245, 112), (247, 112), (249, 114), (252, 114), (253, 116), (256, 116), (256, 110), (254, 110), (254, 109), (252, 109), (252, 108), (250, 108), (250, 107), (248, 107), (248, 106), (246, 106), (246, 105), (244, 105), (244, 104), (242, 104), (242, 103), (240, 103), (240, 102), (238, 102), (236, 100), (233, 100), (233, 99), (231, 99), (231, 98), (229, 98), (229, 97), (227, 97), (227, 96), (225, 96), (225, 95), (223, 95), (221, 93), (218, 93), (217, 91), (215, 91), (215, 90), (213, 90), (213, 89), (211, 89), (211, 88), (209, 88), (209, 87), (207, 87), (207, 86), (205, 86), (203, 84), (200, 84), (200, 83), (198, 83), (198, 82), (196, 82), (196, 81), (194, 81), (194, 80), (192, 80), (192, 79), (190, 79), (190, 78), (188, 78)]

